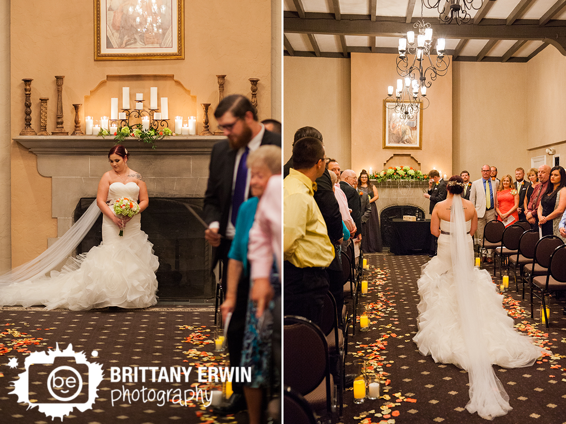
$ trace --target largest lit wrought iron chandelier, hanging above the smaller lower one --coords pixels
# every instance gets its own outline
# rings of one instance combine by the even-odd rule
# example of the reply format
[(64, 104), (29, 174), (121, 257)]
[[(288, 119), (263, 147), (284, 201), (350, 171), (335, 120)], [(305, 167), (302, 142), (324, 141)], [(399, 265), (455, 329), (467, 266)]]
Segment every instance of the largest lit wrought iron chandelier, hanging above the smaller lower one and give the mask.
[[(399, 38), (397, 73), (401, 77), (409, 77), (411, 81), (418, 81), (421, 88), (429, 88), (432, 81), (436, 80), (436, 77), (446, 75), (450, 65), (450, 58), (444, 55), (446, 51), (444, 38), (437, 40), (437, 55), (434, 63), (430, 57), (432, 52), (432, 28), (423, 19), (423, 2), (424, 0), (421, 0), (421, 20), (413, 25), (418, 31), (417, 43), (415, 44), (414, 31), (409, 31), (406, 38)], [(409, 55), (413, 55), (412, 60), (409, 59)]]

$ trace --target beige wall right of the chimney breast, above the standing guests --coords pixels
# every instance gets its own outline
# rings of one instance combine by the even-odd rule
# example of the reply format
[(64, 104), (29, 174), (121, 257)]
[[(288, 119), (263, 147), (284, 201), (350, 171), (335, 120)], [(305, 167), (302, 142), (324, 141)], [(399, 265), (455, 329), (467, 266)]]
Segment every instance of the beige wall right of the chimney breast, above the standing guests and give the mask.
[(498, 175), (530, 167), (528, 132), (534, 116), (528, 113), (525, 63), (454, 62), (454, 172), (468, 170), (481, 178), (486, 163)]

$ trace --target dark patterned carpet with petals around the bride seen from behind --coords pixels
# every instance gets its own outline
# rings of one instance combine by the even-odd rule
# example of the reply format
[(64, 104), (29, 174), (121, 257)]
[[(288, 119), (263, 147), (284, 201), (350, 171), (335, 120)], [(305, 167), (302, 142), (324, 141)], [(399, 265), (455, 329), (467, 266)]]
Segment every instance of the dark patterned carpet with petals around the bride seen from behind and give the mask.
[[(370, 263), (368, 296), (370, 331), (351, 336), (346, 358), (346, 373), (355, 358), (366, 359), (383, 379), (390, 381), (379, 400), (353, 403), (351, 389), (344, 396), (341, 423), (480, 423), (486, 422), (464, 407), (469, 401), (468, 374), (454, 365), (436, 364), (430, 356), (418, 352), (412, 338), (417, 332), (417, 280), (427, 256), (366, 255)], [(491, 268), (492, 270), (492, 268)], [(512, 279), (511, 279), (512, 280)], [(554, 356), (537, 361), (531, 367), (503, 369), (496, 374), (509, 395), (513, 407), (500, 423), (566, 423), (566, 316), (564, 301), (552, 298), (550, 328), (541, 324), (539, 303), (535, 319), (530, 318), (529, 292), (521, 301), (510, 282), (504, 306), (515, 319), (516, 327), (535, 336)], [(359, 312), (358, 312), (359, 313)]]

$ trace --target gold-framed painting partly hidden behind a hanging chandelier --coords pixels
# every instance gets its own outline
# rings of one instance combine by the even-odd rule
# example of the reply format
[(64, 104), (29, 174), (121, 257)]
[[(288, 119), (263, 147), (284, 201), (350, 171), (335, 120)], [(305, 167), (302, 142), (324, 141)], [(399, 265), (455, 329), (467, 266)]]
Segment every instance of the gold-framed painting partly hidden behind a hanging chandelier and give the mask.
[[(404, 102), (409, 105), (409, 102)], [(422, 104), (422, 102), (421, 102)], [(405, 118), (400, 108), (391, 100), (383, 101), (383, 148), (384, 149), (422, 149), (423, 111)]]

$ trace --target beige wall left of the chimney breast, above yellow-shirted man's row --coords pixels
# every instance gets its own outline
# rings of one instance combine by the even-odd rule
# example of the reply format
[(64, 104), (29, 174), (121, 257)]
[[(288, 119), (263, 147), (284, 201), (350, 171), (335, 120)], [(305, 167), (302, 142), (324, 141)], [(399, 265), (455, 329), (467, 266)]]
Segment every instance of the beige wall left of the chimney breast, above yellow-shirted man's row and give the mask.
[(350, 60), (285, 57), (283, 67), (284, 161), (291, 157), (295, 131), (311, 126), (322, 133), (327, 156), (349, 168)]

